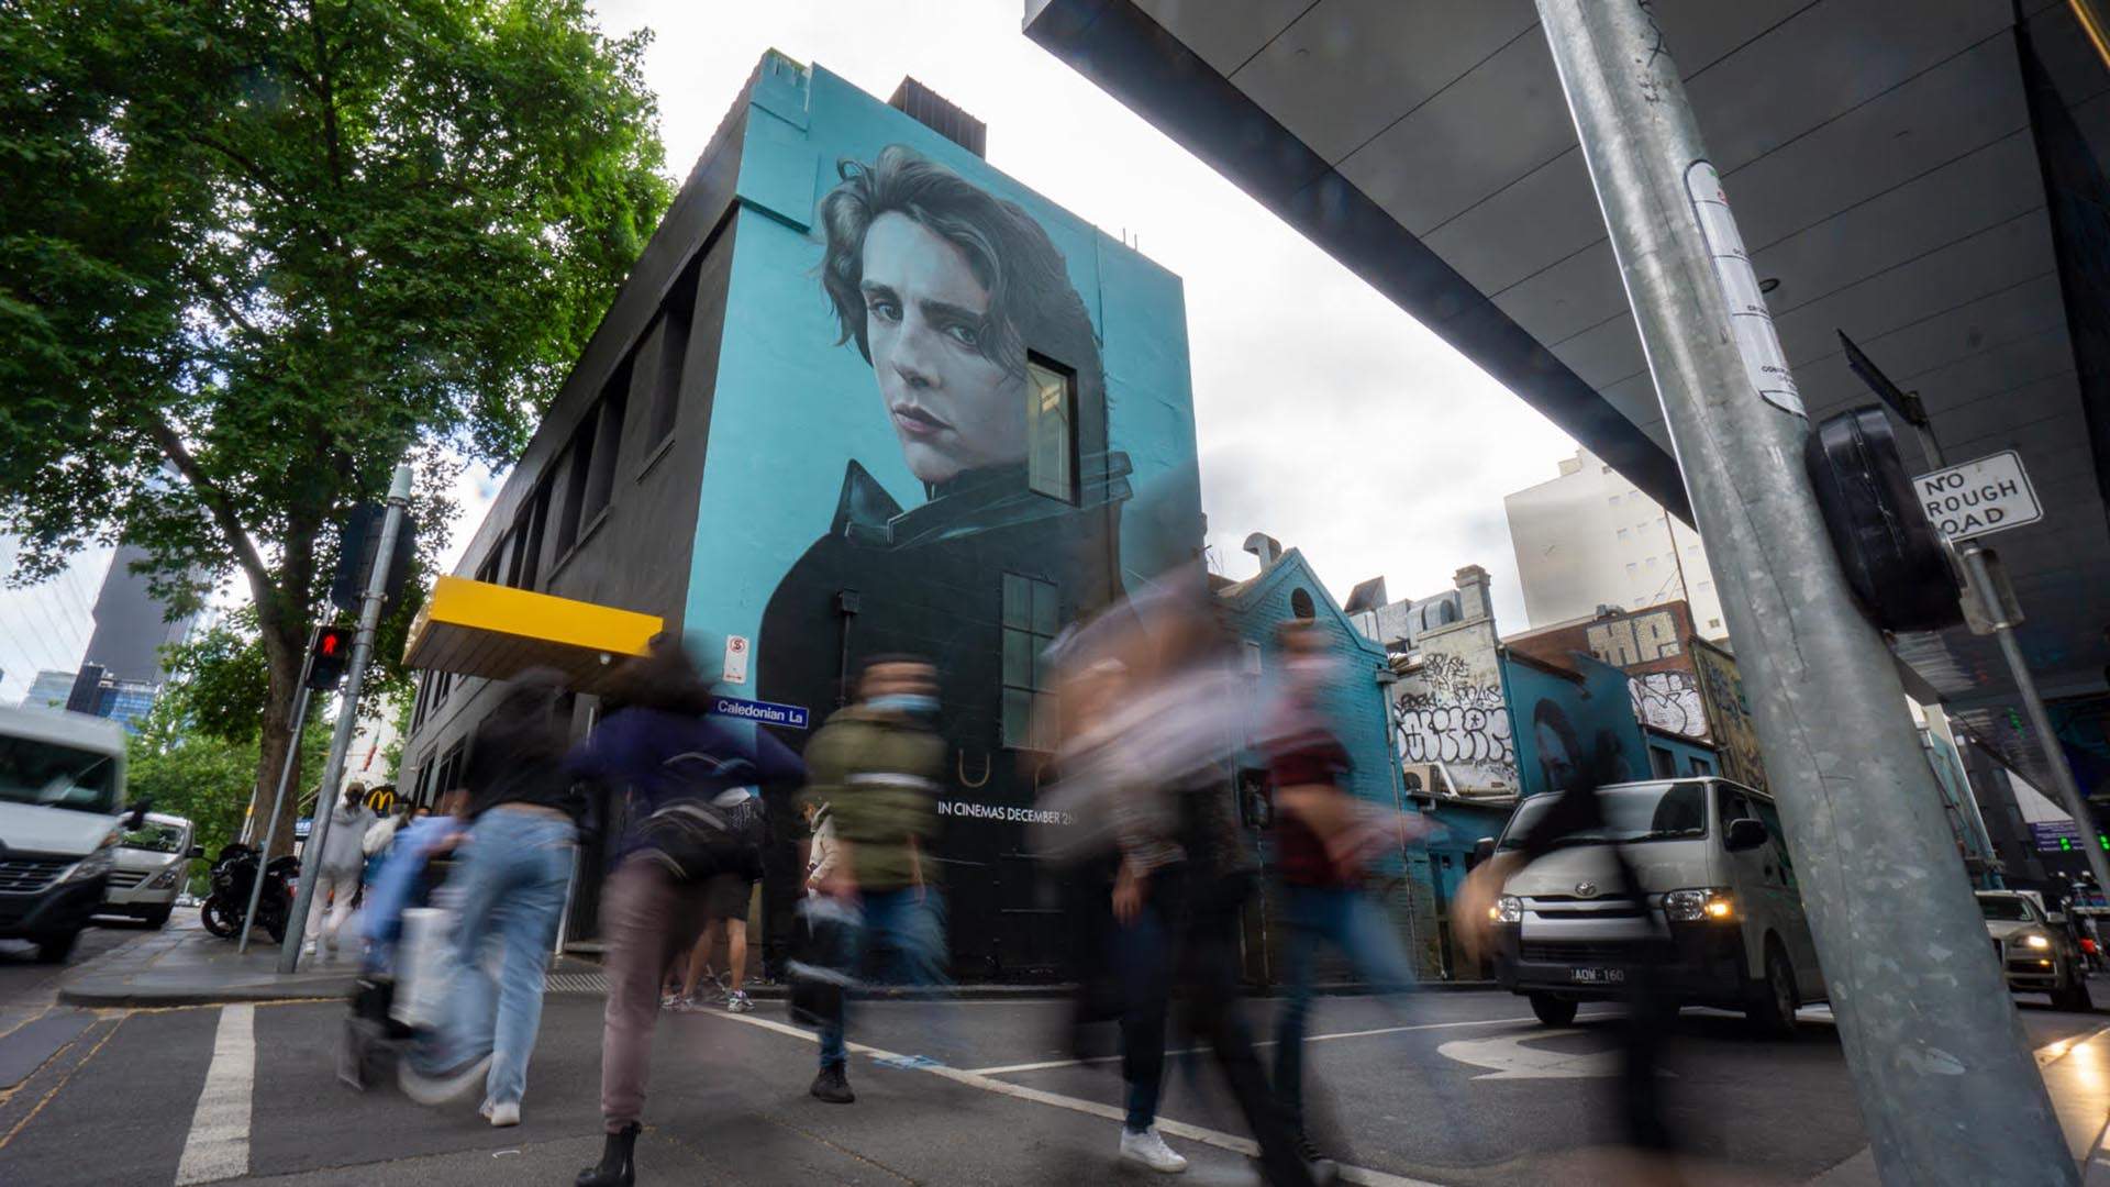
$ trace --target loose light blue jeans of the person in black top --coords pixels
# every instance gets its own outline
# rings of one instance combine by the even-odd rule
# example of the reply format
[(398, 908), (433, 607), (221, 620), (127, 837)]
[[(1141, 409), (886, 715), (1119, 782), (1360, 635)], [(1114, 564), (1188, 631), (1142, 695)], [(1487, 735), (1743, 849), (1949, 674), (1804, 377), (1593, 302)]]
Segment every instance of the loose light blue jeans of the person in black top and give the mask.
[[(468, 847), (447, 877), (460, 925), (439, 1062), (460, 1067), (492, 1056), (485, 1105), (519, 1105), (528, 1090), (528, 1056), (542, 1029), (542, 974), (572, 881), (574, 836), (568, 819), (494, 807), (468, 830)], [(485, 946), (498, 948), (496, 984)]]

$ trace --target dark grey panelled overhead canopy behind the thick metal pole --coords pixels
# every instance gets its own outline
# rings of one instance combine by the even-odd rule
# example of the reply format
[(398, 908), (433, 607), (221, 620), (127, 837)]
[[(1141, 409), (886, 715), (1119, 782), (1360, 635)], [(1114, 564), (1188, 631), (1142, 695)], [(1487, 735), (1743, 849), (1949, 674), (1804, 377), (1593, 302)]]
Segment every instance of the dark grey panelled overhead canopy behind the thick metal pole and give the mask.
[[(1988, 543), (2047, 697), (2102, 699), (2110, 70), (2076, 19), (2091, 6), (1652, 11), (1812, 420), (1874, 401), (1844, 329), (1922, 395), (1950, 463), (2017, 450), (2045, 520)], [(1028, 0), (1025, 32), (1690, 522), (1530, 0)], [(1935, 469), (1916, 441), (1907, 465)], [(2045, 779), (1992, 640), (1897, 651), (1910, 691)]]

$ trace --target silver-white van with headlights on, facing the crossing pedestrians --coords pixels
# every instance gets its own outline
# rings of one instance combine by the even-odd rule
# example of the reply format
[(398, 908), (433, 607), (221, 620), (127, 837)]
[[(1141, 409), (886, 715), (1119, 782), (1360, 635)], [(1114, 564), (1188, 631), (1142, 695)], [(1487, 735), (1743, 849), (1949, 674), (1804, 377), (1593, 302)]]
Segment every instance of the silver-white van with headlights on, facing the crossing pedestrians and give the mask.
[[(1796, 1005), (1825, 997), (1802, 915), (1796, 864), (1772, 798), (1726, 779), (1652, 779), (1597, 792), (1606, 824), (1517, 870), (1494, 906), (1494, 969), (1540, 1022), (1566, 1026), (1578, 1001), (1616, 999), (1642, 946), (1665, 944), (1658, 993), (1671, 1007), (1743, 1010), (1791, 1035)], [(1521, 836), (1555, 796), (1528, 796), (1502, 830)], [(1614, 853), (1644, 906), (1620, 896)]]

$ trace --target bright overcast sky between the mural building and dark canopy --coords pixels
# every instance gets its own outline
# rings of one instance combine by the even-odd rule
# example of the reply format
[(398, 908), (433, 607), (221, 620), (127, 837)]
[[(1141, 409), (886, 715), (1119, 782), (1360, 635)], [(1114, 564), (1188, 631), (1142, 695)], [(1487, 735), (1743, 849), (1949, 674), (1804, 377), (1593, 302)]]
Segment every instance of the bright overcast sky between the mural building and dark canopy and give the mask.
[[(1502, 494), (1545, 482), (1566, 433), (1019, 32), (1019, 0), (603, 0), (603, 30), (654, 32), (667, 167), (684, 177), (764, 51), (886, 97), (914, 74), (990, 125), (990, 165), (1127, 234), (1186, 281), (1203, 509), (1220, 572), (1249, 532), (1302, 547), (1336, 598), (1494, 574), (1523, 629)], [(483, 515), (464, 482), (458, 545)], [(449, 558), (452, 560), (452, 558)]]

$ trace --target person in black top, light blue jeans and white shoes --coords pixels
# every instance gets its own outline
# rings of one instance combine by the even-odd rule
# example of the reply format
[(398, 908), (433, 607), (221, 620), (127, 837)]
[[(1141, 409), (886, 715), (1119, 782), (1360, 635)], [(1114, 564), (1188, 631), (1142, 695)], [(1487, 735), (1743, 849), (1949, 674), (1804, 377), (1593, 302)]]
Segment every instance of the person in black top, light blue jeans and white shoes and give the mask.
[[(530, 672), (483, 722), (471, 754), (468, 836), (443, 900), (458, 912), (454, 986), (441, 1024), (401, 1064), (403, 1092), (441, 1105), (483, 1086), (481, 1113), (517, 1126), (542, 982), (578, 849), (584, 798), (563, 769), (557, 674)], [(498, 948), (498, 978), (485, 950)]]

